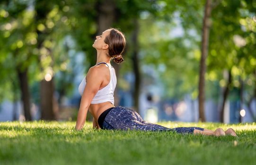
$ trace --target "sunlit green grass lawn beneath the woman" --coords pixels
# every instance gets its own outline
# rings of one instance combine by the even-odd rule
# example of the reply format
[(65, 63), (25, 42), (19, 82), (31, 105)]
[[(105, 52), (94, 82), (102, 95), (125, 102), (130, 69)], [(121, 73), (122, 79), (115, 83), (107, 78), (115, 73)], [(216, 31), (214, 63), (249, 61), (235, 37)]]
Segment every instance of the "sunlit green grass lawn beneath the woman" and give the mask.
[[(232, 127), (238, 137), (173, 132), (93, 130), (75, 122), (0, 123), (0, 165), (255, 165), (256, 123), (159, 123), (167, 127)], [(236, 142), (235, 142), (236, 141)], [(237, 143), (237, 145), (235, 145)]]

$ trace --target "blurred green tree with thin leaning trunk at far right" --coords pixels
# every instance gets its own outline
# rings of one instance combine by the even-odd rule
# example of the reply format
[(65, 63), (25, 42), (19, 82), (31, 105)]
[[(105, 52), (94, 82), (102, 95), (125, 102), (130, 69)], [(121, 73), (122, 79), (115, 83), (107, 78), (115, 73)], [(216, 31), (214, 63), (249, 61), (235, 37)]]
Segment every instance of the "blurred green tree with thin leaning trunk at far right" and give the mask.
[[(248, 3), (248, 4), (247, 4)], [(253, 73), (255, 66), (252, 66), (247, 59), (254, 59), (252, 49), (255, 40), (246, 36), (254, 35), (253, 29), (247, 29), (245, 22), (249, 26), (253, 24), (255, 9), (253, 1), (231, 1), (222, 0), (221, 3), (212, 10), (213, 25), (210, 36), (210, 54), (208, 57), (209, 71), (214, 77), (219, 77), (220, 86), (223, 88), (222, 103), (220, 110), (220, 120), (223, 122), (224, 105), (228, 99), (229, 91), (235, 88), (243, 90), (242, 83), (246, 77)], [(249, 8), (251, 12), (249, 12)], [(220, 21), (221, 20), (221, 21)], [(252, 27), (252, 26), (251, 26)], [(249, 51), (248, 51), (249, 50)], [(224, 77), (221, 74), (224, 72)], [(240, 81), (241, 79), (241, 81)], [(236, 94), (243, 102), (242, 95)], [(238, 109), (239, 110), (239, 109)]]

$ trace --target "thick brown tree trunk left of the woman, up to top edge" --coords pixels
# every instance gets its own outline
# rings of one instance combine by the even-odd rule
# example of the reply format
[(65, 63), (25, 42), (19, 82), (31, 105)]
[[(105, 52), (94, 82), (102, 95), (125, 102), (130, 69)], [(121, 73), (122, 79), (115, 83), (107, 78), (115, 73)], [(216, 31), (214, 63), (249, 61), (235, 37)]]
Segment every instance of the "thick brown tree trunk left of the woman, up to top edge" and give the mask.
[[(38, 61), (40, 62), (41, 72), (44, 73), (44, 78), (40, 82), (40, 109), (41, 119), (55, 120), (54, 113), (54, 75), (53, 75), (53, 55), (50, 44), (52, 43), (50, 33), (54, 23), (52, 17), (57, 14), (58, 7), (55, 6), (55, 1), (50, 3), (45, 0), (35, 0), (35, 26), (37, 34), (37, 49), (39, 50)], [(52, 11), (52, 13), (50, 13)], [(50, 21), (47, 22), (46, 21)], [(47, 25), (48, 26), (47, 26)], [(52, 24), (49, 26), (49, 24)], [(49, 46), (46, 43), (49, 43)], [(45, 71), (46, 70), (46, 71)], [(46, 73), (45, 73), (46, 72)]]

